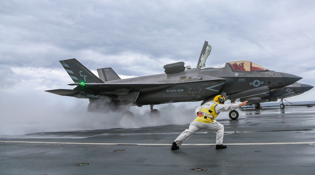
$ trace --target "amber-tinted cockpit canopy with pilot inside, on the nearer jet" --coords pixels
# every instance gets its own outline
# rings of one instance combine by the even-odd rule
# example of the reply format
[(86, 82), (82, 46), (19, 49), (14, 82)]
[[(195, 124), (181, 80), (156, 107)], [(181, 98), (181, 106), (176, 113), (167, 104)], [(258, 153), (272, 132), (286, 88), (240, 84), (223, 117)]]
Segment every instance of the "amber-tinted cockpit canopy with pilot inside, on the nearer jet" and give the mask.
[[(259, 72), (264, 72), (267, 69), (264, 67), (259, 66), (258, 64), (255, 64), (251, 61), (233, 61), (233, 62), (228, 62), (230, 67), (232, 68), (232, 71), (259, 71)], [(267, 70), (268, 71), (268, 70)]]

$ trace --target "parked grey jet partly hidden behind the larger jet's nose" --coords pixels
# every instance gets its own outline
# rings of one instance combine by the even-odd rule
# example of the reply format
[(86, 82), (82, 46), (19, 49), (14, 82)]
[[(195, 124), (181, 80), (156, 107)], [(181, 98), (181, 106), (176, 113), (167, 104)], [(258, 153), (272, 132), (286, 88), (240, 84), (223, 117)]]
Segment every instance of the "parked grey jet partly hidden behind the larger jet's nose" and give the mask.
[(313, 86), (302, 84), (302, 83), (293, 83), (292, 85), (285, 86), (280, 90), (268, 91), (263, 94), (258, 94), (255, 96), (249, 96), (241, 98), (240, 101), (248, 100), (248, 105), (255, 104), (255, 108), (260, 108), (260, 103), (262, 102), (276, 102), (278, 99), (281, 100), (280, 108), (284, 108), (283, 99), (291, 96), (301, 95), (304, 92), (312, 89)]

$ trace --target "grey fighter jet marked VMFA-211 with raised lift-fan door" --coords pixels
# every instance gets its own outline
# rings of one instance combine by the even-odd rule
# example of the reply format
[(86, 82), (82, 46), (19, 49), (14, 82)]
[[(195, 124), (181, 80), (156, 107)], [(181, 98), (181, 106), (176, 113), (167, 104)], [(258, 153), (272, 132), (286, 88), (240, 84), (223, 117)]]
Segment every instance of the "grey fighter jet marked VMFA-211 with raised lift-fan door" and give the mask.
[[(235, 102), (244, 98), (280, 89), (302, 79), (289, 73), (268, 70), (251, 61), (232, 61), (220, 67), (205, 67), (211, 46), (204, 42), (197, 67), (184, 62), (167, 64), (165, 73), (120, 79), (111, 67), (97, 69), (98, 78), (76, 59), (62, 60), (61, 65), (76, 86), (72, 90), (47, 90), (61, 96), (88, 98), (90, 112), (124, 111), (133, 116), (130, 106), (150, 105), (150, 116), (159, 116), (153, 105), (171, 102), (205, 102), (220, 94)], [(235, 112), (231, 115), (233, 117)], [(230, 117), (231, 117), (230, 115)], [(238, 115), (238, 114), (237, 114)]]

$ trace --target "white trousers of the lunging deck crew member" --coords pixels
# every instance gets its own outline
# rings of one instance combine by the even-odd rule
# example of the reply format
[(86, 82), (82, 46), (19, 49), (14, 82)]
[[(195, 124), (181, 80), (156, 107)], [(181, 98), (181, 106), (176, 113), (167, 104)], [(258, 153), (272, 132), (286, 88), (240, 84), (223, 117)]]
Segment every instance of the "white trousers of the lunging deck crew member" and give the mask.
[(189, 137), (194, 135), (196, 132), (201, 129), (206, 129), (209, 131), (216, 131), (216, 139), (215, 144), (221, 145), (223, 143), (223, 134), (224, 134), (224, 126), (217, 121), (213, 123), (202, 123), (198, 121), (192, 121), (189, 125), (189, 128), (183, 131), (174, 142), (177, 145), (183, 144)]

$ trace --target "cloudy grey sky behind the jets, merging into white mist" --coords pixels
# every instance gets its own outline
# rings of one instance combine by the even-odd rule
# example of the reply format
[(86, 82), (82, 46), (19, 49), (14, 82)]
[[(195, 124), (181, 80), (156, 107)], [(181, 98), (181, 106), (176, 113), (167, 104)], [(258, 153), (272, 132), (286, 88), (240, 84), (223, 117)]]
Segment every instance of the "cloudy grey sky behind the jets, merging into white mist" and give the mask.
[[(59, 63), (70, 58), (96, 75), (97, 68), (112, 67), (121, 78), (145, 76), (179, 61), (196, 67), (206, 40), (212, 46), (207, 67), (252, 61), (314, 86), (314, 9), (312, 0), (0, 0), (0, 135), (124, 127), (85, 113), (88, 100), (44, 92), (73, 88)], [(314, 97), (313, 88), (287, 100)], [(138, 109), (149, 107), (131, 110)]]

